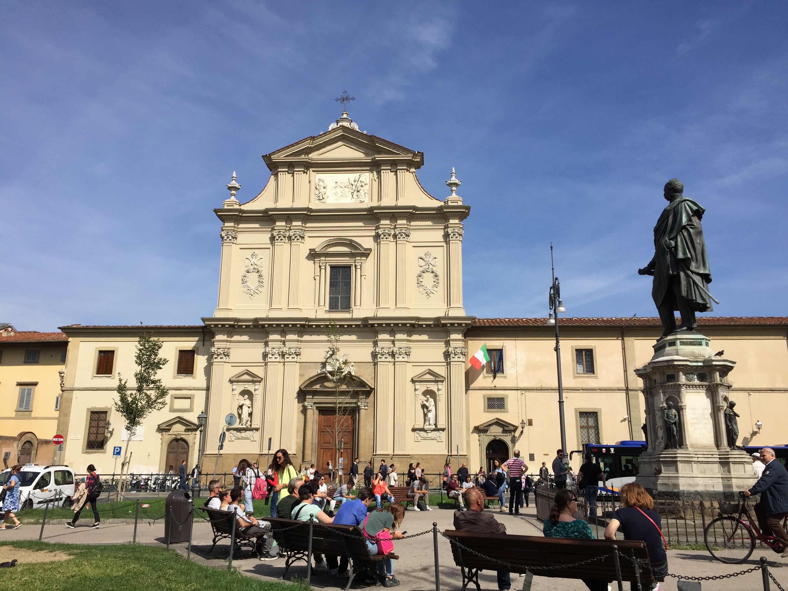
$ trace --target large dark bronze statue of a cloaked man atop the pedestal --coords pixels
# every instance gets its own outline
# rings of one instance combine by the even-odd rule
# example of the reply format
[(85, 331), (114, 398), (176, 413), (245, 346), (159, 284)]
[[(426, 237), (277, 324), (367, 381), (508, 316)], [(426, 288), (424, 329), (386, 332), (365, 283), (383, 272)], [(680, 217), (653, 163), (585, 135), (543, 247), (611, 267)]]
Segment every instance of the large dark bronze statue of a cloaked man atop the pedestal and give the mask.
[(696, 312), (712, 310), (708, 284), (712, 272), (708, 268), (706, 243), (703, 239), (701, 217), (704, 208), (683, 195), (684, 185), (678, 179), (665, 184), (665, 207), (654, 226), (654, 258), (640, 275), (653, 275), (651, 290), (662, 321), (662, 336), (676, 332), (674, 310), (682, 316), (678, 330), (693, 330), (697, 326)]

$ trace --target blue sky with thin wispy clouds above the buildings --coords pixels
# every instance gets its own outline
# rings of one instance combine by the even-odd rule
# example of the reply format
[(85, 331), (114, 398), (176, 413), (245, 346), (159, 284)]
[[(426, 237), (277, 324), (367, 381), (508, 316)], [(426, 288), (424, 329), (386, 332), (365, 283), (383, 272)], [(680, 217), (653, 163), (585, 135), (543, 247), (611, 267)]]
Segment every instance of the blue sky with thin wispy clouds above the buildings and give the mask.
[(788, 6), (781, 2), (3, 2), (0, 321), (194, 324), (219, 221), (334, 97), (423, 151), (470, 204), (465, 306), (656, 315), (652, 228), (678, 177), (718, 315), (783, 315)]

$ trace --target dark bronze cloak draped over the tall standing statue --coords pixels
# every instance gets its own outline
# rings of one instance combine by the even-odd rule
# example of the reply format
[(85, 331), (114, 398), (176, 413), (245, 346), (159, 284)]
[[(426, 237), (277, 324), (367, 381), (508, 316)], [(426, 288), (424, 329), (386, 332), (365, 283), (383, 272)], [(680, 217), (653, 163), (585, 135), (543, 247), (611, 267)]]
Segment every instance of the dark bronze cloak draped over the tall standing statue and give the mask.
[[(708, 268), (706, 243), (703, 239), (701, 218), (705, 210), (699, 203), (684, 197), (668, 205), (654, 226), (654, 283), (651, 295), (660, 307), (667, 294), (671, 277), (678, 275), (681, 292), (696, 312), (713, 310), (708, 293), (698, 288), (694, 277), (704, 288), (712, 282)], [(675, 247), (668, 249), (664, 240), (673, 240)], [(691, 277), (690, 277), (691, 276)], [(678, 307), (674, 306), (674, 310)]]

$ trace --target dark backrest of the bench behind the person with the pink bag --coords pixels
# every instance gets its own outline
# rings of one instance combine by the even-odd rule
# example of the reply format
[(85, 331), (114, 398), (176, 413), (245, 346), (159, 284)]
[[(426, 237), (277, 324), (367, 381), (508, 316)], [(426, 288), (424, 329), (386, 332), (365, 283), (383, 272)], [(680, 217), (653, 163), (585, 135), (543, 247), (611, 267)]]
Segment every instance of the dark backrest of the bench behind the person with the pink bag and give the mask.
[[(307, 552), (309, 524), (295, 519), (265, 518), (272, 528), (273, 539), (282, 548)], [(300, 527), (294, 527), (300, 525)], [(323, 523), (312, 524), (312, 552), (351, 559), (369, 559), (364, 535), (358, 527)]]

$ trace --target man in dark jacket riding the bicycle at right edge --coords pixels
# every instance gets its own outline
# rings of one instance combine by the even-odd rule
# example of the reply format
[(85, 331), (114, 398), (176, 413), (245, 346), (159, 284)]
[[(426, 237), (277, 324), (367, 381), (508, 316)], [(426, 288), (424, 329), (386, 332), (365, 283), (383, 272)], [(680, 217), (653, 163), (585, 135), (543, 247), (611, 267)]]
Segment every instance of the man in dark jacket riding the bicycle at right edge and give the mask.
[(764, 474), (751, 489), (745, 490), (744, 496), (760, 493), (760, 501), (755, 504), (755, 515), (758, 526), (764, 536), (774, 536), (782, 542), (782, 558), (788, 558), (788, 534), (782, 528), (782, 520), (788, 515), (788, 471), (775, 459), (772, 448), (760, 450), (760, 461), (763, 462)]

